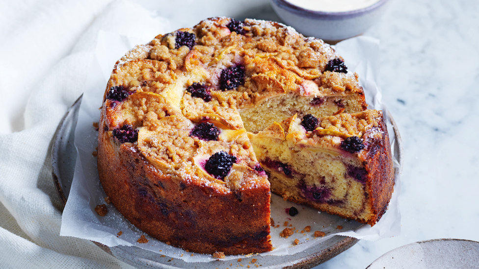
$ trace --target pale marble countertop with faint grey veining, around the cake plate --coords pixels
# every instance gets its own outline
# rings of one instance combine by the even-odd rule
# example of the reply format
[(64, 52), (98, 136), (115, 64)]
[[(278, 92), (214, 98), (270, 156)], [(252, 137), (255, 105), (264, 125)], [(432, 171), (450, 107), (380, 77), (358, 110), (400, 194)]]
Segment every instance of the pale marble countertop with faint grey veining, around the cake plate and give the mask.
[[(219, 0), (201, 7), (191, 0), (137, 2), (169, 19), (171, 30), (213, 16), (281, 21), (267, 0), (241, 1), (242, 9)], [(364, 269), (418, 241), (479, 241), (478, 1), (392, 0), (364, 35), (380, 40), (379, 87), (402, 138), (401, 234), (362, 240), (316, 269)], [(2, 125), (8, 122), (2, 119)]]

